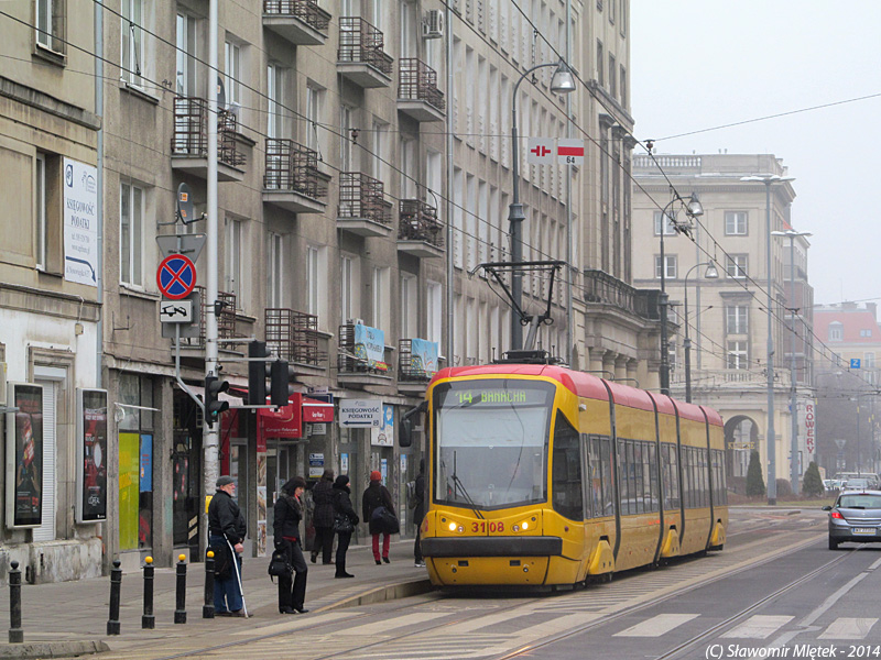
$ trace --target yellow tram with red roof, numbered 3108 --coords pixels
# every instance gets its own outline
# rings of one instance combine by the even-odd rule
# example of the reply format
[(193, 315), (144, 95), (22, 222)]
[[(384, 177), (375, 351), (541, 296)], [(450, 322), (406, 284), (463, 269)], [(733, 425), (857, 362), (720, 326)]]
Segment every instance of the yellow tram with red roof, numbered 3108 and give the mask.
[(725, 543), (713, 409), (505, 363), (438, 372), (423, 409), (435, 585), (577, 584)]

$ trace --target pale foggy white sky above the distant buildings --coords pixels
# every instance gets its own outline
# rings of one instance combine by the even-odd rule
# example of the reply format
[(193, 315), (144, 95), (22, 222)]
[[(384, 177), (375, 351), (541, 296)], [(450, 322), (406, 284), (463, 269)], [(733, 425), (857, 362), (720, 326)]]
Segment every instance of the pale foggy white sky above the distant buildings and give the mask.
[(881, 94), (881, 1), (631, 0), (630, 19), (634, 135), (656, 154), (782, 158), (815, 301), (881, 298), (881, 96), (664, 140)]

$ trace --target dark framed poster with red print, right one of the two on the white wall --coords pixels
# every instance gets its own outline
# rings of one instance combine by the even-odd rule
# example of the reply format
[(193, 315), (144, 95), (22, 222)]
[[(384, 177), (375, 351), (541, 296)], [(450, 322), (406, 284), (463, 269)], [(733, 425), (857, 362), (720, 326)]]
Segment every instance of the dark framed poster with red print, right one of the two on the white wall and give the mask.
[(77, 389), (76, 521), (107, 519), (107, 391)]

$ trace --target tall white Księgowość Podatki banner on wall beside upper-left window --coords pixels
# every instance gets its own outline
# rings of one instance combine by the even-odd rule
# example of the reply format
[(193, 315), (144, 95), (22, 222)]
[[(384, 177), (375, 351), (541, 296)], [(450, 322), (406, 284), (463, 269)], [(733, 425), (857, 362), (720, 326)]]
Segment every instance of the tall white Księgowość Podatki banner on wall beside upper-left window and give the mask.
[(64, 278), (98, 286), (98, 169), (64, 160)]

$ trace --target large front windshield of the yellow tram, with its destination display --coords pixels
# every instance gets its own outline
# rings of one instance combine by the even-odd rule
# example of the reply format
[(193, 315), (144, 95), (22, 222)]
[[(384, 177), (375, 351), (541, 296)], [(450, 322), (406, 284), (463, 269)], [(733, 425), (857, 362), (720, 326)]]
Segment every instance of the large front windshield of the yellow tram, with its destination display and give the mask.
[(474, 508), (547, 499), (554, 386), (523, 380), (434, 389), (434, 499)]

